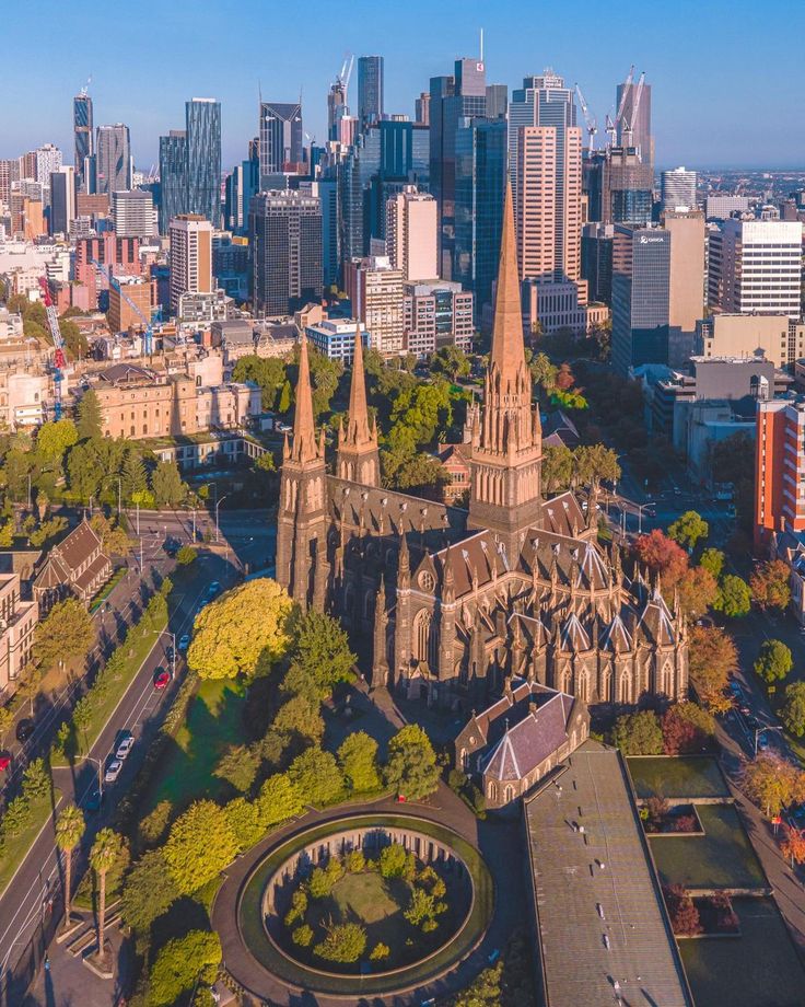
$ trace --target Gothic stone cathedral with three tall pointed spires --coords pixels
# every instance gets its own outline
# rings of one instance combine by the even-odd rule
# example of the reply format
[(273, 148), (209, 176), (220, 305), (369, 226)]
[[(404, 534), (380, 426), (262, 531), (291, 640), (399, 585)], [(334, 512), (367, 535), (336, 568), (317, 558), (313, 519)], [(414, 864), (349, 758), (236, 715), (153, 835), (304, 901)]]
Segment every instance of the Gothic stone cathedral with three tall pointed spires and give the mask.
[(586, 513), (572, 493), (542, 498), (510, 192), (483, 401), (468, 428), (468, 511), (384, 489), (359, 335), (328, 472), (303, 339), (280, 483), (280, 583), (303, 609), (341, 620), (373, 686), (431, 705), (478, 708), (513, 680), (588, 705), (684, 698), (678, 604), (640, 569), (629, 575), (617, 545), (598, 544), (594, 496)]

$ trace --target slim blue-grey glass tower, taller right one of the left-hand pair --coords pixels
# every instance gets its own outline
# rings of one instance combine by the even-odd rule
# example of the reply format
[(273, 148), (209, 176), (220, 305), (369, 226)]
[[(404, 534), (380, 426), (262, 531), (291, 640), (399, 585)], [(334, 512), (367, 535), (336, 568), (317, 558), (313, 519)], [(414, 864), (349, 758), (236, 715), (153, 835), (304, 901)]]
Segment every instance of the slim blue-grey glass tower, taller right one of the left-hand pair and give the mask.
[(217, 228), (221, 223), (221, 103), (194, 97), (185, 103), (187, 212)]

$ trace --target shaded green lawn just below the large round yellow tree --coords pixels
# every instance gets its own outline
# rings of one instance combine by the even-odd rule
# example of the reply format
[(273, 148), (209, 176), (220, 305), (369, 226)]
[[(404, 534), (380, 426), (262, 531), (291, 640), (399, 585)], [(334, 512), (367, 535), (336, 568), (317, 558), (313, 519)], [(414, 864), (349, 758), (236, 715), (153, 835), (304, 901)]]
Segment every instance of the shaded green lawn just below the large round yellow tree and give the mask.
[(149, 798), (148, 814), (161, 800), (188, 805), (201, 797), (218, 797), (228, 785), (212, 775), (232, 744), (244, 741), (242, 724), (246, 690), (230, 679), (207, 679), (187, 709), (187, 718), (172, 739)]

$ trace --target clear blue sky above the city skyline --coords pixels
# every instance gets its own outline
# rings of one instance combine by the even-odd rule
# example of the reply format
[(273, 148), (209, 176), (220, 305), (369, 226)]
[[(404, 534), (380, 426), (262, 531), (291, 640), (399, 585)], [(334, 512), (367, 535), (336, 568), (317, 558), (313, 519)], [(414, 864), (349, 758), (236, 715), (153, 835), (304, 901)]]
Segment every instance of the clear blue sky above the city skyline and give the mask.
[[(223, 163), (245, 157), (266, 99), (302, 89), (319, 139), (326, 94), (347, 53), (381, 53), (386, 112), (413, 114), (430, 77), (478, 50), (487, 80), (517, 86), (547, 66), (579, 82), (603, 126), (630, 63), (646, 71), (661, 166), (805, 166), (802, 0), (8, 0), (0, 70), (0, 157), (52, 141), (72, 160), (71, 97), (92, 74), (95, 124), (131, 128), (138, 167), (182, 128), (184, 102), (223, 105)], [(82, 12), (86, 16), (82, 16)], [(786, 40), (786, 39), (790, 39)], [(357, 103), (357, 70), (350, 85)], [(599, 142), (603, 129), (599, 134)]]

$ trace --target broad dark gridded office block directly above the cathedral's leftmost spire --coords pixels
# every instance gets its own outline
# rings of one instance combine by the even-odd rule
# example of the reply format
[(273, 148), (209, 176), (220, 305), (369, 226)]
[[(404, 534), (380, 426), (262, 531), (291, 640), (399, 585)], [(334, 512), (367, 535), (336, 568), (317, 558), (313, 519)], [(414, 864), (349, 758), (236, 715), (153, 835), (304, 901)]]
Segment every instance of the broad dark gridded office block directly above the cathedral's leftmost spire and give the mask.
[(322, 297), (322, 205), (290, 190), (259, 193), (249, 208), (254, 305), (287, 315)]

